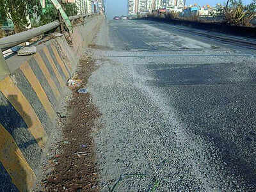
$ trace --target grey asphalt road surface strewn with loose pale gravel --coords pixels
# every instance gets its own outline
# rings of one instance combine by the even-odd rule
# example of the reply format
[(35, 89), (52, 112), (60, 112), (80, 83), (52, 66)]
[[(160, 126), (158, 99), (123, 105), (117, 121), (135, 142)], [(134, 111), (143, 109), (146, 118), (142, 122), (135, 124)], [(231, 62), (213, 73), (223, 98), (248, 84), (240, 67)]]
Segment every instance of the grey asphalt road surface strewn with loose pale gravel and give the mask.
[(88, 83), (102, 191), (256, 191), (256, 52), (237, 40), (255, 42), (146, 20), (102, 26)]

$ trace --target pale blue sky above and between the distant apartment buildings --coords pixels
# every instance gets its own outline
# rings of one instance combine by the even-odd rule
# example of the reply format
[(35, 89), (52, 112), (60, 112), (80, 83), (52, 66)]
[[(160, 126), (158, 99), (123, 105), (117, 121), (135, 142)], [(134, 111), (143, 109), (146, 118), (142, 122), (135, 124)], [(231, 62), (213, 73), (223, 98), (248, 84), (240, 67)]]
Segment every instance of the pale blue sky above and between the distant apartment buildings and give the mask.
[[(127, 0), (105, 0), (106, 1), (106, 13), (108, 19), (112, 19), (115, 15), (127, 15)], [(186, 0), (186, 4), (200, 4), (200, 5), (215, 5), (217, 3), (223, 4), (227, 0)], [(245, 4), (251, 2), (251, 0), (243, 0)]]

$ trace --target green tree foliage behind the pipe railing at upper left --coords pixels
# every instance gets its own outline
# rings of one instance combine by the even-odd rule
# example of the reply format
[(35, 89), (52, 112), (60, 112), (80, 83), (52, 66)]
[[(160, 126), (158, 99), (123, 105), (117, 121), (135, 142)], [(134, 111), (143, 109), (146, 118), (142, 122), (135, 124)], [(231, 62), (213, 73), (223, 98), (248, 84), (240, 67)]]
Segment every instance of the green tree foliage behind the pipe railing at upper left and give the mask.
[[(45, 0), (45, 6), (42, 9), (40, 0), (0, 0), (0, 22), (11, 19), (15, 33), (19, 33), (29, 26), (30, 21), (37, 27), (58, 19), (58, 10), (51, 0)], [(61, 3), (61, 6), (68, 16), (77, 14), (75, 3)]]

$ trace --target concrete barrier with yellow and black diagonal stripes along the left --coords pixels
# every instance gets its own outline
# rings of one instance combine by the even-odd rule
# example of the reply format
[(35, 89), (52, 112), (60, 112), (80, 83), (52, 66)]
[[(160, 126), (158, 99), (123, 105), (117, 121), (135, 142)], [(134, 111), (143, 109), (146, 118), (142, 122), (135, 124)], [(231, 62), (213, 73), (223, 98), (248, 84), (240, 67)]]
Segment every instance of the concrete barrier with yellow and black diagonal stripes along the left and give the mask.
[(11, 74), (0, 79), (0, 191), (30, 191), (51, 132), (67, 79), (103, 17), (37, 46), (32, 56), (6, 60)]

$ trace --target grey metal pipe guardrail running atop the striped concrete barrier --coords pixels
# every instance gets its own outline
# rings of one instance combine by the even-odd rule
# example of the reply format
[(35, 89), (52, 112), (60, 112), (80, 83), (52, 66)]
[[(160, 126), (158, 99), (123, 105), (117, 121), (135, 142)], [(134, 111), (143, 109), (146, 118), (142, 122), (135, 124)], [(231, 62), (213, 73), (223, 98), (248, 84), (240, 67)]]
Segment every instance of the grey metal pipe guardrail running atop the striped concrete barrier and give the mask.
[[(92, 14), (92, 15), (94, 15), (94, 14)], [(90, 17), (92, 15), (70, 16), (69, 19), (76, 20), (76, 19), (80, 19), (81, 17), (83, 17), (83, 18)], [(42, 35), (42, 34), (46, 33), (47, 31), (56, 29), (59, 26), (60, 26), (60, 22), (58, 20), (55, 20), (54, 22), (45, 24), (44, 26), (40, 26), (35, 29), (29, 29), (28, 31), (23, 31), (23, 32), (17, 33), (15, 35), (10, 35), (10, 36), (5, 36), (3, 38), (0, 38), (0, 50), (5, 51), (7, 49), (10, 49), (16, 45), (22, 44), (23, 42), (30, 40), (31, 38)]]

